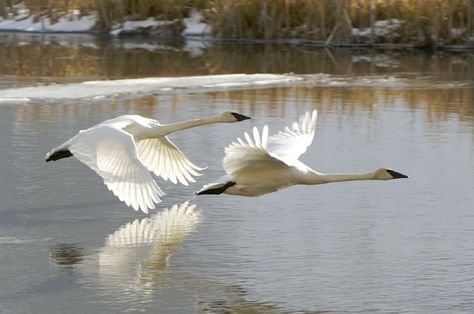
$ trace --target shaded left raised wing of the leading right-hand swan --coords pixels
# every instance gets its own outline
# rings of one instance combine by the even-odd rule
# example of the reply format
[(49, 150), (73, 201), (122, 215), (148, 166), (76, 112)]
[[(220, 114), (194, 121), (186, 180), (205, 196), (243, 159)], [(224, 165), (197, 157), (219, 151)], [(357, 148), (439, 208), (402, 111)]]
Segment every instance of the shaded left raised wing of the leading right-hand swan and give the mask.
[(257, 171), (288, 167), (283, 161), (272, 156), (267, 150), (268, 126), (264, 126), (260, 135), (256, 127), (253, 128), (253, 138), (244, 133), (245, 141), (237, 138), (225, 148), (223, 166), (227, 174), (237, 181), (239, 176), (255, 175)]

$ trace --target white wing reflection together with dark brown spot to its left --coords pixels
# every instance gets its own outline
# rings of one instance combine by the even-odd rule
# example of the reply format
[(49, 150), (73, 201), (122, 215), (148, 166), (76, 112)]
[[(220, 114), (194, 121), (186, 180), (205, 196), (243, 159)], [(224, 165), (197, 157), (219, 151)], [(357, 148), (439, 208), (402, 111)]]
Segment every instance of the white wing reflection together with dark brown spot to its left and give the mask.
[(84, 254), (84, 248), (75, 244), (58, 244), (51, 248), (50, 259), (74, 267), (76, 274), (87, 278), (85, 283), (98, 282), (104, 293), (143, 297), (169, 275), (170, 256), (200, 221), (200, 210), (186, 201), (122, 225), (106, 236), (97, 254)]

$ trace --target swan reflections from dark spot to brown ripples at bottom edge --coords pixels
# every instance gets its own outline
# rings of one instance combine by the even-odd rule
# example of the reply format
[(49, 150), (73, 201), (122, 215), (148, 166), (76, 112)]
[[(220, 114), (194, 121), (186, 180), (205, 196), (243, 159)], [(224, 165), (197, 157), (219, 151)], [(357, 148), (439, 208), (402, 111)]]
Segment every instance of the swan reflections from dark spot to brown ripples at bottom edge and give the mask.
[(51, 248), (50, 258), (61, 267), (74, 267), (82, 284), (115, 302), (141, 304), (144, 308), (165, 299), (157, 296), (179, 302), (189, 297), (183, 293), (185, 287), (184, 291), (197, 293), (194, 302), (199, 312), (229, 313), (230, 309), (235, 313), (289, 313), (271, 302), (252, 300), (239, 285), (170, 271), (170, 257), (201, 220), (196, 205), (175, 204), (122, 225), (106, 236), (97, 254), (84, 254), (85, 249), (77, 244), (58, 244)]

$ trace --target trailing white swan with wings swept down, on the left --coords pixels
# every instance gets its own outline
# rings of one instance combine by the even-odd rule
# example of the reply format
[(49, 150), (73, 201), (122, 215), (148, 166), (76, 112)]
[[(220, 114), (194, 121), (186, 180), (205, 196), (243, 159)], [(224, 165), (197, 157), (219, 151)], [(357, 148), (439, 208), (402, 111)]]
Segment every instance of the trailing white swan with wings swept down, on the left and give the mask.
[(121, 201), (148, 213), (163, 191), (149, 171), (164, 180), (188, 185), (203, 170), (193, 164), (166, 135), (213, 123), (250, 119), (235, 112), (190, 121), (160, 124), (139, 115), (124, 115), (101, 122), (46, 154), (46, 161), (73, 156), (104, 179)]

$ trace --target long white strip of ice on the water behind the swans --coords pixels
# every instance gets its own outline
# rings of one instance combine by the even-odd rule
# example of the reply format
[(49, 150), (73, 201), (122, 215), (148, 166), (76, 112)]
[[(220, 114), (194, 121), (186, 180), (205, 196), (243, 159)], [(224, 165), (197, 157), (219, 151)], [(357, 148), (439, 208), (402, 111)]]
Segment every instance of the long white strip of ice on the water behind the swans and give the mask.
[(162, 77), (125, 80), (87, 81), (0, 90), (0, 102), (48, 99), (104, 99), (115, 96), (144, 96), (173, 92), (206, 92), (280, 86), (301, 81), (293, 75), (228, 74), (189, 77)]

